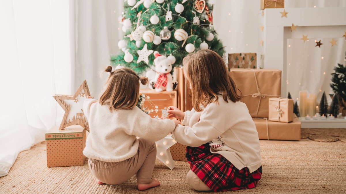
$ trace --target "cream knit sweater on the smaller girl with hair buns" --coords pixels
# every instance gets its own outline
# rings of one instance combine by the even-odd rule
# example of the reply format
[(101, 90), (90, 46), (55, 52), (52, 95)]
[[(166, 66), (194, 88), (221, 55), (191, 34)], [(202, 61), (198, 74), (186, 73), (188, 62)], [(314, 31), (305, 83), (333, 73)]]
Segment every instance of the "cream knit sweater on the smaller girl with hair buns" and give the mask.
[(98, 100), (86, 99), (83, 111), (90, 128), (83, 154), (104, 162), (120, 162), (136, 155), (136, 136), (155, 142), (175, 128), (172, 120), (151, 118), (137, 106), (110, 111)]

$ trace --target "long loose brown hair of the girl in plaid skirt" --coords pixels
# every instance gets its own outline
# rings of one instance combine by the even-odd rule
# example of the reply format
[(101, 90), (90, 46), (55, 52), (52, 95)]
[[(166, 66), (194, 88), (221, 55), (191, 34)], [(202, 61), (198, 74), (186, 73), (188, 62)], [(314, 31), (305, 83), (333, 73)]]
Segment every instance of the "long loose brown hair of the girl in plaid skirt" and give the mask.
[(218, 96), (228, 102), (242, 99), (237, 94), (237, 87), (230, 76), (224, 60), (215, 51), (209, 49), (199, 50), (186, 56), (183, 60), (184, 74), (191, 85), (192, 106), (200, 112), (214, 101)]

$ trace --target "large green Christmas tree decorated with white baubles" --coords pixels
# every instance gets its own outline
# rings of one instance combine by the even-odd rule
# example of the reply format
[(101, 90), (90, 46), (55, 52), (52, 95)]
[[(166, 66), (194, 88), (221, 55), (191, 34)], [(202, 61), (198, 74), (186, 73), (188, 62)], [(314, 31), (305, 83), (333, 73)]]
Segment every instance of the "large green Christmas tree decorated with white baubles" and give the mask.
[(126, 66), (141, 74), (153, 65), (154, 51), (182, 64), (190, 52), (211, 49), (221, 57), (224, 46), (212, 26), (207, 0), (126, 0), (120, 22), (125, 37), (111, 56), (112, 66)]

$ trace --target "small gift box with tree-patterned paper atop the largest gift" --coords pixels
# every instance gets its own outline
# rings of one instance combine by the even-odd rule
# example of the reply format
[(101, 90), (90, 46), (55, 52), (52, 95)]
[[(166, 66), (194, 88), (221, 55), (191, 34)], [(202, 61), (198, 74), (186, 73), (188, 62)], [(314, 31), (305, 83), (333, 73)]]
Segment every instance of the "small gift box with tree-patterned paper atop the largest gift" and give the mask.
[(228, 68), (256, 69), (256, 53), (230, 53), (228, 54)]

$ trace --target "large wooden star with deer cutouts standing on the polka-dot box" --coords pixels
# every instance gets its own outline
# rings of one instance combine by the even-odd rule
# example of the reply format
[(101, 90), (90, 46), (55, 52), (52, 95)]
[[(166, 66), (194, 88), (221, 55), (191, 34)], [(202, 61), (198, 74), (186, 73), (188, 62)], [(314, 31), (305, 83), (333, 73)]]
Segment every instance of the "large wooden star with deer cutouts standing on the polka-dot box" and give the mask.
[(54, 95), (54, 99), (58, 104), (65, 110), (63, 120), (61, 121), (59, 130), (72, 125), (80, 125), (89, 131), (89, 124), (83, 113), (83, 102), (86, 96), (79, 96), (80, 94), (85, 94), (90, 96), (88, 84), (86, 80), (83, 81), (81, 86), (74, 95)]

